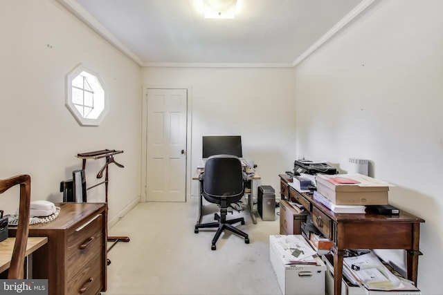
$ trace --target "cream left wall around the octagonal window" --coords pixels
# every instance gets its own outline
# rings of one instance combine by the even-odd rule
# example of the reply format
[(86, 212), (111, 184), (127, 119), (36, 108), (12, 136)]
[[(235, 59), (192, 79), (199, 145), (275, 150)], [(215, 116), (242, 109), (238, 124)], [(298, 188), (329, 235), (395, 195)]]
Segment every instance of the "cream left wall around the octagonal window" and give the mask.
[[(60, 181), (81, 169), (77, 153), (118, 149), (109, 167), (109, 221), (140, 196), (141, 74), (138, 65), (51, 0), (0, 4), (0, 179), (31, 176), (32, 200), (62, 201)], [(82, 127), (64, 106), (64, 77), (78, 64), (100, 73), (109, 113)], [(105, 160), (88, 160), (87, 185)], [(104, 179), (104, 178), (103, 178)], [(14, 213), (18, 187), (0, 196)], [(88, 191), (105, 202), (104, 186)]]

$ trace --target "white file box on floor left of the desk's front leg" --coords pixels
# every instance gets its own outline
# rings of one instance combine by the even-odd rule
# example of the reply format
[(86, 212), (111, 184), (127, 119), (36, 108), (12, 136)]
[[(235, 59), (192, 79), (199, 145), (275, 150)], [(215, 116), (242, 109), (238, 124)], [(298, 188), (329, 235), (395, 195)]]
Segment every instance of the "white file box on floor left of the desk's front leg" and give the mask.
[(314, 258), (317, 265), (284, 265), (272, 236), (269, 245), (272, 269), (283, 295), (325, 294), (326, 266), (318, 256)]

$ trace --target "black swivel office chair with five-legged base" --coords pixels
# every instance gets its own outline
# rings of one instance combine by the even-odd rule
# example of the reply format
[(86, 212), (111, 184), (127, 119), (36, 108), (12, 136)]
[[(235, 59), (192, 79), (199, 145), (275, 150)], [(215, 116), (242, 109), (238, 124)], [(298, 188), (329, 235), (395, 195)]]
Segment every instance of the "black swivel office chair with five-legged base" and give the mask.
[(246, 178), (239, 158), (235, 155), (214, 155), (208, 158), (204, 173), (199, 176), (199, 181), (201, 196), (204, 196), (208, 202), (219, 204), (220, 216), (218, 213), (214, 214), (214, 219), (217, 222), (195, 225), (195, 234), (198, 234), (201, 228), (218, 227), (211, 246), (213, 250), (217, 249), (215, 243), (225, 229), (242, 236), (244, 242), (249, 244), (248, 234), (233, 226), (237, 222), (242, 222), (244, 225), (244, 218), (226, 220), (228, 206), (231, 203), (239, 202), (244, 195)]

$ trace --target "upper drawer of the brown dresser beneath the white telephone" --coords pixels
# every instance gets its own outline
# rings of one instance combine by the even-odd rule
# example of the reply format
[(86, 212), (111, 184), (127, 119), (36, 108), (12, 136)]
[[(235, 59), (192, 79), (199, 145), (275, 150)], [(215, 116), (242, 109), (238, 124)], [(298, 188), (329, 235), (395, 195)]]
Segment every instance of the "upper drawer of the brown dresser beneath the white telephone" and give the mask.
[[(79, 265), (85, 265), (102, 252), (104, 247), (102, 222), (103, 216), (98, 214), (69, 231), (66, 251), (68, 278), (80, 271)], [(98, 264), (100, 265), (100, 262)]]

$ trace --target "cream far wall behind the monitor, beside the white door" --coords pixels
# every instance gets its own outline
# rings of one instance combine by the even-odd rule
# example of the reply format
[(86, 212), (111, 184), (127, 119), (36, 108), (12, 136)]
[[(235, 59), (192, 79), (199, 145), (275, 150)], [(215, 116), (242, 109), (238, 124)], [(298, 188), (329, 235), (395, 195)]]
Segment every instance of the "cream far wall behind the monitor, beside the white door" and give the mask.
[[(201, 164), (203, 135), (242, 135), (243, 156), (254, 160), (280, 196), (278, 173), (293, 168), (293, 68), (143, 68), (143, 84), (190, 86), (191, 171)], [(197, 182), (192, 182), (197, 196)]]

